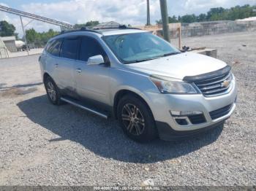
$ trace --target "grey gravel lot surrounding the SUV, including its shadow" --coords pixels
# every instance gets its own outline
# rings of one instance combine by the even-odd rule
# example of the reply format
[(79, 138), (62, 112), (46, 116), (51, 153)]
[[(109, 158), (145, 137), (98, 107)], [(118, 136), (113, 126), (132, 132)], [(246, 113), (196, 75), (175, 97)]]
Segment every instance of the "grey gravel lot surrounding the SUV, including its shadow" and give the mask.
[(184, 141), (130, 141), (115, 120), (51, 105), (38, 55), (0, 60), (0, 185), (255, 185), (256, 34), (183, 43), (216, 47), (239, 88), (224, 128)]

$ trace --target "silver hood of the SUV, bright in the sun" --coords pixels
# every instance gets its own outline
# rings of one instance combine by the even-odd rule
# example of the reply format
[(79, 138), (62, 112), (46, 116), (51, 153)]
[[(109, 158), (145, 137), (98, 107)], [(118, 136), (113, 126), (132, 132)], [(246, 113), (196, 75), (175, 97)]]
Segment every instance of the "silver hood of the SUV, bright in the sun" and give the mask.
[(127, 64), (129, 69), (149, 75), (157, 74), (177, 79), (217, 71), (225, 66), (227, 64), (223, 61), (193, 52), (184, 52), (151, 61)]

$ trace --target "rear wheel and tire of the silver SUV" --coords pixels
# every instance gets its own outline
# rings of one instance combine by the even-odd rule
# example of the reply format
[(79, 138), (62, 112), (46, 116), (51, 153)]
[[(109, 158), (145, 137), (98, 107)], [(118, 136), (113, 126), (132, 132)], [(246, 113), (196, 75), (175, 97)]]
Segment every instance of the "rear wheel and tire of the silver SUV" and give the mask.
[(59, 93), (59, 88), (51, 77), (45, 79), (45, 90), (50, 103), (53, 105), (61, 105), (61, 94)]

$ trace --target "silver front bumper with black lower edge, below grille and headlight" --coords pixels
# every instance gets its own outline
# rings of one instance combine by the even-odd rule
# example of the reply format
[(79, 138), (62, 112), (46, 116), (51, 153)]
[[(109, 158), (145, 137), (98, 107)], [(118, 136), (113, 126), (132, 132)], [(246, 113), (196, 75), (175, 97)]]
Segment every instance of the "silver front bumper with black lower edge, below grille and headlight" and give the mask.
[[(171, 140), (179, 137), (189, 136), (200, 131), (221, 125), (233, 113), (236, 108), (237, 87), (236, 81), (233, 88), (224, 95), (205, 97), (202, 94), (195, 95), (173, 95), (148, 93), (150, 107), (157, 123), (160, 139)], [(230, 106), (224, 115), (212, 119), (210, 112)], [(189, 123), (179, 125), (170, 111), (195, 111), (203, 112), (204, 122), (198, 124)]]

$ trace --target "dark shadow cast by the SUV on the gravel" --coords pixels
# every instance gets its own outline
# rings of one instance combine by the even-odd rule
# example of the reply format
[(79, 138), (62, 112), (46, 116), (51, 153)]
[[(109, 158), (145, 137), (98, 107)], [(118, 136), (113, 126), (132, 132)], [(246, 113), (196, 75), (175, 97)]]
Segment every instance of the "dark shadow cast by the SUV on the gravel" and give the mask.
[(69, 139), (101, 157), (129, 163), (155, 163), (194, 152), (216, 141), (223, 125), (181, 141), (156, 140), (139, 144), (124, 136), (116, 120), (104, 120), (75, 106), (53, 106), (46, 95), (18, 103), (20, 110), (32, 122), (56, 135), (61, 141)]

